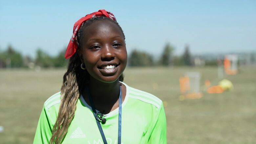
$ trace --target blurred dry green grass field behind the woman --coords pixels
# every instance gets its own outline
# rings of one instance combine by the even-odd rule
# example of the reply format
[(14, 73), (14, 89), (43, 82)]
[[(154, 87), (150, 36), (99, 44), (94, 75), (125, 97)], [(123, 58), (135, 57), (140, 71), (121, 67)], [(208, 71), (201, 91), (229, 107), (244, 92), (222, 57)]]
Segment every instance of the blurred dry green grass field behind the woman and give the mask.
[[(127, 68), (124, 82), (158, 96), (165, 104), (167, 141), (174, 144), (255, 144), (256, 68), (225, 76), (234, 90), (203, 92), (201, 99), (179, 100), (179, 77), (187, 71), (217, 84), (209, 68)], [(0, 70), (0, 144), (29, 144), (44, 101), (60, 91), (65, 70)]]

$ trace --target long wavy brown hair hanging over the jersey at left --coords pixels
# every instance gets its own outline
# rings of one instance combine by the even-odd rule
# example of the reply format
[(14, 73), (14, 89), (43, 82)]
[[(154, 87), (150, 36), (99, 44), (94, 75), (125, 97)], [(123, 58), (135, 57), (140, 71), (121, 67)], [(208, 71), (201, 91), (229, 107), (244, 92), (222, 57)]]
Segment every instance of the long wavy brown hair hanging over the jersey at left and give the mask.
[(79, 62), (79, 56), (75, 53), (75, 55), (70, 58), (68, 70), (63, 76), (60, 109), (53, 126), (53, 135), (50, 144), (59, 144), (61, 142), (67, 134), (68, 127), (74, 118), (76, 103), (81, 93), (79, 88), (83, 87), (86, 76), (88, 76), (88, 74), (81, 71), (81, 62), (80, 64)]

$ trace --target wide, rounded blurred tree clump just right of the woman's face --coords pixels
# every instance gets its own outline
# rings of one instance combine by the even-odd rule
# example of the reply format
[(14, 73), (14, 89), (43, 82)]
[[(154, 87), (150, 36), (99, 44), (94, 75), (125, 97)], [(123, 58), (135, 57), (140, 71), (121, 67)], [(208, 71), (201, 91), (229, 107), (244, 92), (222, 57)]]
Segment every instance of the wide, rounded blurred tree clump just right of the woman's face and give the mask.
[(152, 66), (153, 58), (146, 52), (133, 50), (129, 58), (130, 66)]

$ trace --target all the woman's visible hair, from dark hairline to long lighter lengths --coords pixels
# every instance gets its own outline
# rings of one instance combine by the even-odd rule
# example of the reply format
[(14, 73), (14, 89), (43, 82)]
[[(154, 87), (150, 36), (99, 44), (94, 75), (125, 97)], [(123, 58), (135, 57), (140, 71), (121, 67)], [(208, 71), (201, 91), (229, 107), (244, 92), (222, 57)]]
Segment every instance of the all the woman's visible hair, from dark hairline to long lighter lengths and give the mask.
[[(81, 26), (78, 31), (77, 42), (78, 49), (80, 49), (79, 43), (84, 36), (84, 29), (95, 21), (109, 20), (120, 28), (119, 24), (106, 17), (93, 17)], [(122, 31), (123, 34), (123, 31)], [(123, 34), (124, 36), (124, 34)], [(79, 95), (82, 93), (84, 84), (90, 79), (90, 75), (86, 70), (80, 68), (81, 61), (77, 52), (70, 57), (67, 72), (63, 76), (63, 83), (61, 86), (61, 102), (56, 122), (53, 126), (52, 137), (50, 144), (60, 144), (65, 138), (70, 123), (75, 116), (76, 104)], [(119, 81), (123, 81), (123, 74), (120, 75)]]

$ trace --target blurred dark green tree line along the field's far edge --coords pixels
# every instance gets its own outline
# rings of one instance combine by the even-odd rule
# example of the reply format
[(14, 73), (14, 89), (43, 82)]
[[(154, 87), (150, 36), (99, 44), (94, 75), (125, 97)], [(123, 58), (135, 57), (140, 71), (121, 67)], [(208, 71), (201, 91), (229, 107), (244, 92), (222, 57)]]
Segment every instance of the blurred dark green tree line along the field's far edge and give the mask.
[[(133, 50), (128, 55), (128, 65), (131, 67), (143, 66), (193, 66), (194, 59), (189, 51), (189, 46), (185, 46), (182, 55), (174, 55), (174, 47), (167, 43), (159, 59), (154, 59), (153, 55), (145, 52)], [(56, 56), (51, 56), (42, 49), (37, 49), (35, 58), (23, 56), (15, 51), (12, 46), (8, 46), (5, 51), (0, 51), (0, 68), (21, 68), (39, 66), (43, 68), (65, 67), (68, 60), (64, 58), (65, 49)], [(215, 61), (211, 65), (215, 65)]]

